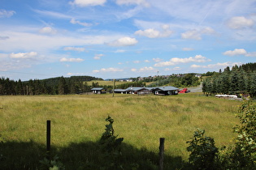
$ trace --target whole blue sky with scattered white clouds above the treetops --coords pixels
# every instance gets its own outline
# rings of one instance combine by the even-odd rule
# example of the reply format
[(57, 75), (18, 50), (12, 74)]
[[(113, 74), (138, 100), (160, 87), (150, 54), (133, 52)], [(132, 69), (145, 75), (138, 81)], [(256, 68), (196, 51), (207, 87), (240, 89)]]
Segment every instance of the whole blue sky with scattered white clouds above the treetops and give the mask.
[(1, 0), (0, 76), (102, 79), (256, 62), (255, 0)]

